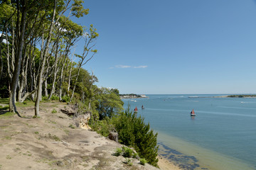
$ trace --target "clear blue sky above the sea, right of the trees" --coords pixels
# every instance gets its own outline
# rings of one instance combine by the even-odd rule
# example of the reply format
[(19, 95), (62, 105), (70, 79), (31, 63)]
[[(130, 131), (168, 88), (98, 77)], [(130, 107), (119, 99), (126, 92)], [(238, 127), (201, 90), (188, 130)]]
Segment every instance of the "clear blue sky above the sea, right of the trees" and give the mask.
[[(85, 65), (121, 94), (255, 94), (256, 1), (85, 0)], [(77, 50), (79, 52), (79, 49)]]

